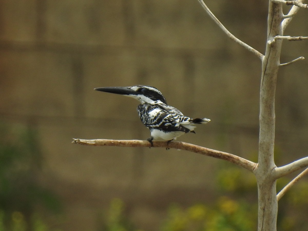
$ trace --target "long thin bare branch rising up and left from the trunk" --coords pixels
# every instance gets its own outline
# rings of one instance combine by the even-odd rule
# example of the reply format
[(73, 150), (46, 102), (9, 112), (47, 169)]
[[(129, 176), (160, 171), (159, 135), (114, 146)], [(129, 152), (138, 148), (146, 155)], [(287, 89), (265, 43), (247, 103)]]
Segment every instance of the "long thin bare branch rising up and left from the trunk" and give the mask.
[(233, 34), (231, 34), (229, 32), (229, 30), (227, 30), (227, 28), (225, 28), (224, 25), (222, 25), (222, 23), (216, 18), (216, 16), (212, 13), (212, 11), (205, 5), (205, 3), (203, 2), (203, 0), (198, 0), (201, 4), (201, 6), (203, 6), (203, 8), (205, 9), (205, 11), (209, 14), (209, 16), (216, 22), (216, 24), (228, 35), (228, 37), (230, 39), (232, 39), (233, 41), (239, 43), (240, 45), (242, 45), (243, 47), (245, 47), (247, 50), (251, 51), (253, 54), (257, 55), (261, 60), (263, 59), (264, 55), (261, 54), (259, 51), (257, 51), (256, 49), (254, 49), (253, 47), (250, 47), (248, 44), (244, 43), (243, 41), (241, 41), (240, 39), (238, 39), (237, 37), (235, 37)]

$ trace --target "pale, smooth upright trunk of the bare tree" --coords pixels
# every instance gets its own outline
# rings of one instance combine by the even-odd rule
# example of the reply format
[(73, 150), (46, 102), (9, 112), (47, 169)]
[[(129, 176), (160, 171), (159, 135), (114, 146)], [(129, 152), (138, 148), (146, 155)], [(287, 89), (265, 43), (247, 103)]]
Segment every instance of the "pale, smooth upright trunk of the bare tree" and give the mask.
[[(282, 35), (282, 4), (269, 3), (267, 40), (272, 41), (276, 35)], [(260, 89), (260, 134), (259, 159), (255, 170), (259, 210), (258, 231), (276, 231), (278, 203), (276, 197), (276, 180), (272, 177), (275, 141), (275, 90), (282, 40), (267, 43), (265, 57), (262, 60)]]

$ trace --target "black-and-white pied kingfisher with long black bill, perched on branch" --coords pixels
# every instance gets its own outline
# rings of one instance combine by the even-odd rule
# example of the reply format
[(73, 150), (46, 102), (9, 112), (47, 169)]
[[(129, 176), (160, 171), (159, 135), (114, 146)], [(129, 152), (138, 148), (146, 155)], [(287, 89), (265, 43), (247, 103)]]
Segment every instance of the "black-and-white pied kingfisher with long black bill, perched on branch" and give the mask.
[(168, 143), (187, 132), (194, 132), (195, 124), (206, 124), (207, 118), (191, 119), (175, 107), (167, 104), (163, 94), (155, 87), (136, 85), (132, 87), (99, 87), (97, 91), (126, 95), (138, 99), (137, 111), (142, 123), (151, 131), (148, 141), (167, 140)]

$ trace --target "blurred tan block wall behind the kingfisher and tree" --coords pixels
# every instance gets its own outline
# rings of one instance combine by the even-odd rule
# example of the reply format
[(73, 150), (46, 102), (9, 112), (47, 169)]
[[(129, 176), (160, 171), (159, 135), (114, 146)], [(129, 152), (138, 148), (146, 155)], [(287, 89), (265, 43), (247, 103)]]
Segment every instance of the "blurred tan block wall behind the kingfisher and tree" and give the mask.
[[(234, 35), (264, 53), (267, 1), (205, 2)], [(286, 35), (307, 36), (306, 21), (301, 10)], [(308, 58), (307, 48), (306, 41), (284, 42), (281, 62)], [(113, 197), (146, 230), (157, 230), (171, 202), (215, 198), (219, 160), (71, 144), (149, 137), (137, 101), (94, 87), (155, 86), (185, 115), (212, 120), (178, 140), (246, 158), (257, 153), (261, 62), (228, 39), (197, 0), (2, 0), (0, 51), (0, 120), (39, 132), (39, 179), (63, 198), (61, 229), (95, 230)], [(304, 60), (279, 73), (277, 164), (307, 153), (307, 71)]]

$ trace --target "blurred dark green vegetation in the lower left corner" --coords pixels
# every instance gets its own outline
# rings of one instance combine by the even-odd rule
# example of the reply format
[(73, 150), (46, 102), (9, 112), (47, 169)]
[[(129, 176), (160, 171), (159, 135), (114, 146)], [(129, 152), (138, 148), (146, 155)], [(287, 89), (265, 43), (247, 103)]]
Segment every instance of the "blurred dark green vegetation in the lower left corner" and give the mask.
[(39, 214), (61, 211), (59, 199), (38, 183), (38, 144), (33, 129), (0, 123), (0, 231), (51, 230)]

